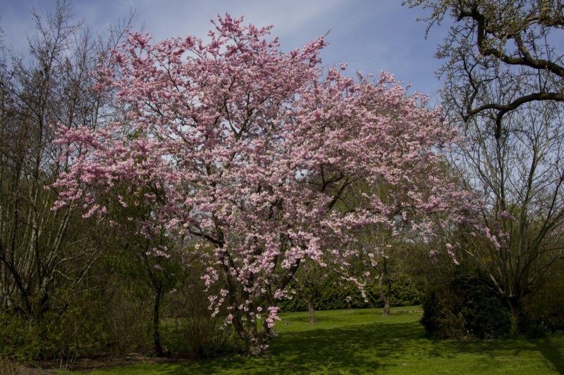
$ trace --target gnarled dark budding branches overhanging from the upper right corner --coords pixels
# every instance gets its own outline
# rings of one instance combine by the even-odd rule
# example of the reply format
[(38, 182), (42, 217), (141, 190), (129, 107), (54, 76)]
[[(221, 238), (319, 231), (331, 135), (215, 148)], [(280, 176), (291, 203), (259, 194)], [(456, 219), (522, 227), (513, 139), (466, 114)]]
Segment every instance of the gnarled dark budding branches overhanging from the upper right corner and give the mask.
[[(455, 20), (436, 56), (446, 59), (446, 108), (464, 120), (489, 117), (494, 136), (502, 119), (535, 101), (564, 101), (564, 26), (560, 0), (408, 0), (431, 11), (429, 27)], [(429, 27), (427, 31), (429, 30)]]

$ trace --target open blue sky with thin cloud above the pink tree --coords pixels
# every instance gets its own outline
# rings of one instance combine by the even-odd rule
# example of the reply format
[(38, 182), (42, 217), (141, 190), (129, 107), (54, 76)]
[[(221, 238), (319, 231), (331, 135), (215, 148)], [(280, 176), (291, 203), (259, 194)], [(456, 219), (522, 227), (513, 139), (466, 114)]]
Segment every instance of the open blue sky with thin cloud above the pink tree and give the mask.
[[(29, 9), (39, 13), (54, 8), (55, 0), (0, 0), (0, 27), (4, 44), (17, 51), (26, 49), (26, 33), (33, 32)], [(274, 24), (272, 34), (280, 37), (283, 50), (303, 46), (331, 30), (321, 58), (326, 65), (348, 63), (350, 73), (393, 72), (397, 80), (410, 82), (412, 91), (431, 96), (441, 82), (434, 72), (437, 44), (446, 27), (431, 29), (424, 39), (425, 23), (415, 19), (424, 11), (401, 6), (401, 0), (74, 0), (73, 13), (95, 32), (135, 9), (138, 20), (133, 29), (145, 30), (156, 39), (193, 34), (204, 37), (209, 20), (216, 15), (244, 15), (245, 23)]]

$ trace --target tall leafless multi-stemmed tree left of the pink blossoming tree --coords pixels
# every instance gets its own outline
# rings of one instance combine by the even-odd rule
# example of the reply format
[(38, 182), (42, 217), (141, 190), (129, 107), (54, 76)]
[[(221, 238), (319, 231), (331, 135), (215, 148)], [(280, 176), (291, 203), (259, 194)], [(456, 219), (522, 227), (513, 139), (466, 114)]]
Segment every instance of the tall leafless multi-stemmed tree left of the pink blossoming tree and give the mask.
[(73, 23), (69, 1), (46, 18), (31, 13), (29, 54), (4, 49), (0, 71), (0, 306), (37, 318), (56, 282), (80, 284), (99, 255), (95, 223), (74, 220), (73, 205), (51, 209), (51, 184), (71, 158), (52, 141), (56, 124), (97, 127), (109, 115), (109, 93), (93, 89), (90, 73), (107, 63), (123, 29), (102, 42)]

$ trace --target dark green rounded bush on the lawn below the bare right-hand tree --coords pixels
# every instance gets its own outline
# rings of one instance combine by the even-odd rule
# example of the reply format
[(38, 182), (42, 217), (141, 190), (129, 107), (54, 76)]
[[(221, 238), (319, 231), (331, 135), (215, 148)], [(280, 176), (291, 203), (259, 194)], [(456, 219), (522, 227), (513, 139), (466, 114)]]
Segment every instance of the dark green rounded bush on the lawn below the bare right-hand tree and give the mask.
[(439, 338), (501, 338), (515, 332), (513, 316), (477, 277), (457, 274), (425, 295), (421, 323)]

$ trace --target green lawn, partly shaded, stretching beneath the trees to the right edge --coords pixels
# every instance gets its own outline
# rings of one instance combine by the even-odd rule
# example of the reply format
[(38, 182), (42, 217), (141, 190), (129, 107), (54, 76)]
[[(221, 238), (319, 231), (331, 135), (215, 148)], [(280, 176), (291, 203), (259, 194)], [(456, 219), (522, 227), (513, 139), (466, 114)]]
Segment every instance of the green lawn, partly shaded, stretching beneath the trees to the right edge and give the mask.
[[(412, 311), (408, 311), (411, 309)], [(282, 314), (262, 358), (144, 363), (74, 374), (558, 374), (564, 336), (537, 340), (440, 341), (419, 324), (418, 307)], [(415, 310), (415, 311), (414, 311)], [(290, 322), (290, 324), (285, 324)], [(68, 373), (64, 373), (68, 374)]]

